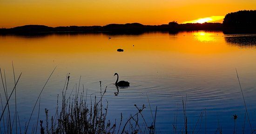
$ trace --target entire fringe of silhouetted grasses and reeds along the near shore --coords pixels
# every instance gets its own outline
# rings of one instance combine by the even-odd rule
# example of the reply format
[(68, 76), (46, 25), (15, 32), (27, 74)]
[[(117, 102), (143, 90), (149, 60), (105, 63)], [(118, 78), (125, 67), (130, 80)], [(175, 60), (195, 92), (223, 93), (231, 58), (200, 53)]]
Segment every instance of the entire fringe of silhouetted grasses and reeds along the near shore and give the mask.
[[(54, 71), (50, 74), (44, 87), (46, 86), (48, 80), (50, 79), (53, 73)], [(84, 89), (83, 85), (80, 86), (80, 81), (79, 81), (77, 92), (73, 93), (73, 90), (74, 90), (73, 88), (71, 93), (67, 94), (67, 89), (69, 87), (68, 85), (70, 80), (69, 74), (67, 74), (65, 86), (63, 87), (61, 92), (61, 97), (59, 95), (57, 96), (55, 114), (50, 116), (49, 110), (46, 108), (45, 109), (46, 119), (44, 121), (43, 119), (39, 120), (39, 113), (38, 113), (37, 123), (33, 124), (32, 127), (29, 124), (32, 114), (34, 112), (35, 106), (37, 105), (37, 102), (39, 102), (38, 111), (40, 111), (40, 95), (44, 89), (43, 87), (35, 102), (35, 105), (29, 120), (26, 122), (26, 124), (20, 124), (20, 118), (19, 118), (17, 109), (15, 109), (15, 113), (10, 113), (8, 102), (12, 94), (16, 93), (16, 85), (20, 80), (21, 74), (19, 75), (19, 78), (16, 81), (14, 69), (13, 69), (15, 85), (13, 87), (11, 94), (9, 95), (6, 92), (7, 86), (6, 86), (5, 73), (4, 75), (2, 75), (1, 69), (0, 69), (0, 74), (1, 74), (3, 89), (5, 91), (4, 96), (6, 97), (6, 100), (7, 100), (7, 103), (3, 104), (2, 96), (0, 94), (0, 99), (2, 104), (2, 112), (1, 112), (2, 114), (0, 118), (0, 124), (2, 127), (0, 128), (0, 134), (13, 134), (14, 132), (16, 132), (16, 134), (18, 133), (20, 134), (23, 134), (23, 133), (24, 134), (38, 134), (38, 133), (40, 134), (156, 134), (157, 133), (157, 131), (155, 130), (157, 107), (155, 109), (155, 112), (153, 112), (151, 110), (149, 100), (148, 100), (148, 103), (149, 103), (148, 106), (152, 114), (151, 122), (147, 122), (145, 120), (145, 117), (143, 116), (143, 110), (146, 108), (145, 105), (142, 105), (141, 107), (139, 107), (136, 104), (134, 106), (135, 106), (135, 109), (137, 109), (137, 112), (130, 114), (130, 116), (126, 119), (124, 119), (121, 114), (120, 117), (116, 117), (118, 118), (118, 121), (115, 119), (113, 120), (114, 122), (113, 121), (111, 122), (107, 118), (108, 101), (103, 99), (104, 94), (106, 93), (107, 87), (105, 87), (102, 90), (101, 81), (100, 81), (100, 92), (98, 93), (100, 94), (100, 96), (97, 98), (94, 94), (88, 95), (87, 90)], [(237, 78), (239, 80), (238, 75), (237, 75)], [(240, 84), (240, 81), (239, 81), (239, 84)], [(80, 87), (82, 87), (82, 89), (80, 89)], [(241, 92), (243, 94), (242, 87), (241, 87)], [(16, 95), (15, 95), (15, 98), (16, 98)], [(59, 103), (59, 98), (61, 98), (60, 103)], [(203, 131), (201, 133), (206, 134), (207, 128), (205, 127), (204, 130), (201, 129), (203, 117), (206, 119), (206, 109), (204, 109), (204, 111), (202, 111), (198, 116), (198, 120), (195, 122), (193, 130), (192, 129), (188, 130), (186, 101), (187, 101), (187, 98), (185, 100), (182, 99), (184, 126), (178, 129), (177, 113), (174, 114), (174, 123), (171, 126), (173, 128), (173, 134), (194, 134), (194, 133), (196, 134), (201, 131)], [(16, 99), (15, 99), (15, 102), (16, 102)], [(244, 117), (244, 123), (243, 123), (243, 134), (244, 134), (246, 117), (247, 117), (247, 121), (249, 122), (249, 127), (251, 132), (250, 134), (256, 134), (256, 129), (253, 128), (250, 123), (245, 101), (244, 101), (244, 105), (246, 109), (246, 115)], [(14, 118), (11, 118), (11, 117), (14, 117)], [(237, 118), (238, 116), (234, 114), (233, 115), (234, 129), (233, 129), (233, 132), (230, 132), (230, 133), (236, 134)], [(17, 129), (18, 126), (20, 130)], [(25, 127), (24, 132), (21, 132), (21, 126)], [(16, 127), (16, 130), (15, 130), (15, 127)], [(28, 128), (31, 128), (31, 129), (28, 129)], [(196, 128), (198, 128), (198, 130), (196, 130)], [(219, 123), (218, 123), (218, 127), (216, 128), (216, 134), (222, 134), (222, 127), (221, 125), (219, 125)]]

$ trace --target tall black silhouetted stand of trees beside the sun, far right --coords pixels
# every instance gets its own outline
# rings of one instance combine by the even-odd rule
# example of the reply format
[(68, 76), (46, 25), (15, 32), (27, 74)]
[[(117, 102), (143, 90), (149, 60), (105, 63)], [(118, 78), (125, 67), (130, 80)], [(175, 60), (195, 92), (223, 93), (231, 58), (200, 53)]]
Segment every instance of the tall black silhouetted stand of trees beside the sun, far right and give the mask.
[(228, 13), (223, 19), (224, 33), (256, 33), (256, 10)]

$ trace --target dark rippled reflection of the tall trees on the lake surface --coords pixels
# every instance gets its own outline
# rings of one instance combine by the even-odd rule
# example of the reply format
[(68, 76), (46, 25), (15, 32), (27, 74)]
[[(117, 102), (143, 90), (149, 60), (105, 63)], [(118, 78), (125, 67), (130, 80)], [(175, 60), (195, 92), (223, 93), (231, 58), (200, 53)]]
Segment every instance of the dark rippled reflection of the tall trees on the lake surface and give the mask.
[(231, 46), (248, 48), (256, 47), (256, 35), (237, 36), (229, 35), (225, 36), (225, 41)]

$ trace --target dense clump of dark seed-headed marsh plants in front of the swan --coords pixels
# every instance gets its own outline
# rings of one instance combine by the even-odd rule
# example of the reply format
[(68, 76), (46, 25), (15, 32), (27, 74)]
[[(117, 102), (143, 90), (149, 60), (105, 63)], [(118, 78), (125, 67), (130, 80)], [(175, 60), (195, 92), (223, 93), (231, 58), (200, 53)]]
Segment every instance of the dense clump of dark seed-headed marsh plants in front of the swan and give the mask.
[[(90, 94), (88, 99), (87, 90), (82, 86), (79, 92), (67, 94), (68, 83), (70, 76), (68, 74), (66, 80), (66, 87), (62, 90), (62, 101), (59, 106), (59, 96), (57, 97), (57, 106), (54, 116), (49, 117), (48, 109), (45, 109), (46, 122), (40, 120), (40, 134), (153, 134), (154, 125), (148, 127), (142, 111), (145, 105), (141, 108), (135, 105), (137, 112), (131, 114), (128, 119), (119, 123), (115, 120), (111, 122), (107, 120), (108, 115), (108, 101), (103, 101), (103, 96), (106, 93), (107, 87), (101, 89), (100, 81), (100, 97), (97, 99), (96, 95)], [(139, 120), (143, 121), (143, 127), (140, 126)], [(45, 124), (45, 125), (44, 125)], [(45, 126), (45, 127), (43, 127)]]

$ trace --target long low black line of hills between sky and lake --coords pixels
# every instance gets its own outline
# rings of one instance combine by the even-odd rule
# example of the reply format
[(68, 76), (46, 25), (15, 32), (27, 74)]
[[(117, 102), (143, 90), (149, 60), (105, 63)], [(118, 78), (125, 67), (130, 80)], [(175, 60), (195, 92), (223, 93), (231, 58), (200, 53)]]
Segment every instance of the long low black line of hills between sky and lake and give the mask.
[(140, 23), (109, 24), (106, 26), (68, 26), (68, 27), (47, 27), (42, 25), (26, 25), (13, 28), (1, 28), (0, 34), (34, 34), (49, 32), (115, 32), (115, 33), (141, 33), (146, 31), (170, 31), (181, 30), (222, 30), (221, 23), (189, 23), (178, 24), (170, 22), (163, 25), (142, 25)]

